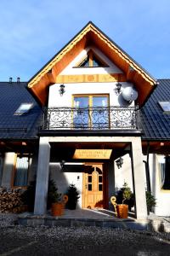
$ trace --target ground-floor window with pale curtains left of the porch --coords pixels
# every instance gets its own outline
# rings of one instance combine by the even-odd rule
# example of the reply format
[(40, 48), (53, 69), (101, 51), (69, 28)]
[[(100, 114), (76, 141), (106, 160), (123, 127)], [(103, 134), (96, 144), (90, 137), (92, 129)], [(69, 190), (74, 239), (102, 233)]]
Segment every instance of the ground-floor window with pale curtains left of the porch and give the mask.
[(27, 186), (29, 162), (30, 158), (28, 156), (17, 156), (14, 170), (14, 187)]

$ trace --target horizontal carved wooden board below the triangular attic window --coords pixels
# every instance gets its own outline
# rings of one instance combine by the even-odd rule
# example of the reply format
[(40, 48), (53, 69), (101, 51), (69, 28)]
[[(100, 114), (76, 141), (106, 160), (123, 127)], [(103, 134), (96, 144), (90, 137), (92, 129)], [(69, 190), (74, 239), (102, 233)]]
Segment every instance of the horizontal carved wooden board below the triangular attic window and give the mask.
[(123, 73), (108, 74), (83, 74), (83, 75), (59, 75), (55, 79), (56, 84), (71, 83), (110, 83), (110, 82), (126, 82), (126, 75)]

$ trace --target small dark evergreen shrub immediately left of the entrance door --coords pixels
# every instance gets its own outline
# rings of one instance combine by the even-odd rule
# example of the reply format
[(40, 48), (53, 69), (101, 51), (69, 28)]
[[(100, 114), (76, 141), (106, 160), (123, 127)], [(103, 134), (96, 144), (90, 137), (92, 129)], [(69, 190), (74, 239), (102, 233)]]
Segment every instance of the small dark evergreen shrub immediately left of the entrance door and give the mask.
[(75, 210), (77, 207), (77, 201), (80, 198), (80, 193), (77, 190), (75, 184), (70, 184), (67, 189), (66, 195), (68, 196), (68, 201), (66, 203), (66, 207), (70, 210)]

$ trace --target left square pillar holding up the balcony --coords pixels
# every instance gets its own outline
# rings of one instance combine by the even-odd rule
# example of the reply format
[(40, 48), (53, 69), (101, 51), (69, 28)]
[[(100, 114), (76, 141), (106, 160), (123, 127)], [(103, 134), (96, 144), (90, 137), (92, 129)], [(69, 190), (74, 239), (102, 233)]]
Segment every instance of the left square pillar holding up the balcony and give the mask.
[(41, 215), (47, 211), (49, 160), (48, 137), (40, 137), (34, 214)]

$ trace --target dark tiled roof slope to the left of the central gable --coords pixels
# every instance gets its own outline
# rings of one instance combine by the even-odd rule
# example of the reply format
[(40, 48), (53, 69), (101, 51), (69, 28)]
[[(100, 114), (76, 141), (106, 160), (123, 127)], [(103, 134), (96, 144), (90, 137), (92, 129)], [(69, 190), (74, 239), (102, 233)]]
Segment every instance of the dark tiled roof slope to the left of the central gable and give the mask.
[[(27, 83), (0, 83), (0, 139), (37, 138), (41, 123), (42, 108), (27, 90)], [(33, 103), (33, 108), (22, 115), (14, 115), (21, 103)]]

